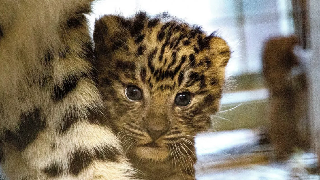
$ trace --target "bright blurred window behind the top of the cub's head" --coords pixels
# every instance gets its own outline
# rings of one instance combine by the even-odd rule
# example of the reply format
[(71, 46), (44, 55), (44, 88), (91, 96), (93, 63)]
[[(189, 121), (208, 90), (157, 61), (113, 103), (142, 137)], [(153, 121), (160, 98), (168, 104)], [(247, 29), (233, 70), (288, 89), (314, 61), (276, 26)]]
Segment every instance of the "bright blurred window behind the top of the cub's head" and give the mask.
[[(150, 14), (168, 11), (177, 18), (198, 24), (211, 33), (218, 30), (234, 53), (227, 74), (261, 73), (261, 53), (266, 40), (293, 34), (290, 0), (117, 0), (99, 1), (94, 18), (101, 14), (124, 16), (145, 10)], [(92, 27), (93, 28), (93, 27)]]

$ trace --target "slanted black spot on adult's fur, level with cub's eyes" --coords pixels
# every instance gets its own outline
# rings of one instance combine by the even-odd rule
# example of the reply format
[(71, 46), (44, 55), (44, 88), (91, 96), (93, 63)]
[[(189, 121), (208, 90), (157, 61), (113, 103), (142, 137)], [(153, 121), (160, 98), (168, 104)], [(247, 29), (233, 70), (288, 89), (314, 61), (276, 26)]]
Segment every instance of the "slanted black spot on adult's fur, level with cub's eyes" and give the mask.
[(61, 86), (55, 85), (52, 98), (56, 101), (62, 100), (69, 92), (76, 88), (78, 78), (70, 75), (65, 78)]

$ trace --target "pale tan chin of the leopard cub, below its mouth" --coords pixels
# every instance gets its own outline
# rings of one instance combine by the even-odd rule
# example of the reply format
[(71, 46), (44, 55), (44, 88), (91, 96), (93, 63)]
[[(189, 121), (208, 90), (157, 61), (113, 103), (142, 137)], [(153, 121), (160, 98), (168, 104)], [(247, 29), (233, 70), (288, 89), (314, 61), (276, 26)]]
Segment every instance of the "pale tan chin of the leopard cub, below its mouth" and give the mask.
[(167, 147), (153, 147), (153, 146), (137, 146), (135, 147), (137, 156), (145, 160), (165, 160), (169, 156), (169, 149)]

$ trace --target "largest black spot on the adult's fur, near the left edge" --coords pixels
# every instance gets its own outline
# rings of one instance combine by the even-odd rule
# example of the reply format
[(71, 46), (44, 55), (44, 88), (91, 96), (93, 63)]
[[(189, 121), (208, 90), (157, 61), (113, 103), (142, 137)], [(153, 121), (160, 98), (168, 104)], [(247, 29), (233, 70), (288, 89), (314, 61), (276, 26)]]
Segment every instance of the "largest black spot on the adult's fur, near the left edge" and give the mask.
[(23, 151), (32, 143), (40, 131), (46, 126), (46, 120), (41, 116), (41, 110), (35, 108), (32, 111), (21, 113), (20, 125), (15, 132), (7, 131), (5, 141), (11, 141), (19, 151)]

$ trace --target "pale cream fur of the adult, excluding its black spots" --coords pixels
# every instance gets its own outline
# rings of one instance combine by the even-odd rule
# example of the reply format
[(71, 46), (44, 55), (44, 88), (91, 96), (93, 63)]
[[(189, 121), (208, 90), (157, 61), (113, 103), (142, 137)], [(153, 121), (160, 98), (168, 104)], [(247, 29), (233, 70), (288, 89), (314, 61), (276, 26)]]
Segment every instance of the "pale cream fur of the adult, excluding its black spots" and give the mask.
[[(3, 144), (5, 160), (2, 163), (4, 175), (10, 180), (21, 178), (42, 179), (117, 179), (130, 180), (135, 172), (124, 156), (118, 162), (93, 161), (78, 176), (50, 177), (44, 168), (59, 162), (67, 170), (70, 154), (77, 149), (91, 150), (100, 145), (109, 145), (122, 152), (119, 140), (108, 127), (92, 125), (87, 121), (73, 124), (65, 134), (59, 134), (64, 115), (68, 112), (79, 114), (84, 120), (88, 108), (98, 109), (102, 105), (100, 94), (89, 78), (80, 79), (77, 86), (62, 101), (51, 100), (53, 87), (61, 85), (69, 74), (79, 76), (89, 71), (91, 64), (76, 56), (67, 54), (61, 60), (52, 51), (52, 68), (44, 66), (44, 55), (53, 49), (80, 51), (85, 41), (81, 31), (67, 32), (60, 25), (66, 15), (74, 12), (79, 4), (90, 0), (0, 0), (0, 28), (4, 37), (0, 38), (0, 137), (5, 130), (15, 131), (20, 124), (21, 112), (40, 107), (47, 117), (46, 129), (41, 131), (34, 142), (20, 152), (12, 144)], [(61, 29), (62, 28), (62, 29)], [(51, 78), (45, 87), (39, 87), (34, 80), (50, 73)], [(0, 139), (1, 141), (1, 139)], [(52, 149), (52, 142), (56, 149)], [(0, 142), (1, 144), (1, 142)]]

